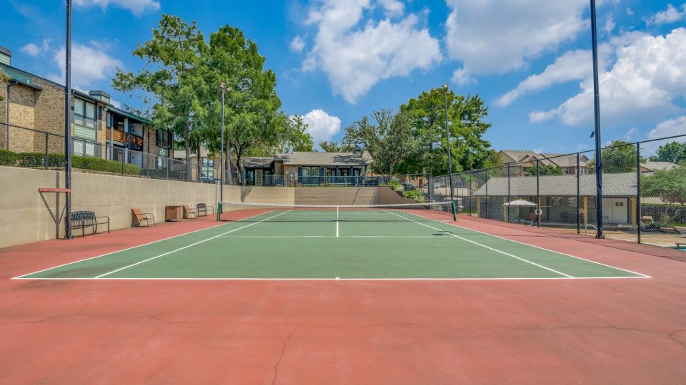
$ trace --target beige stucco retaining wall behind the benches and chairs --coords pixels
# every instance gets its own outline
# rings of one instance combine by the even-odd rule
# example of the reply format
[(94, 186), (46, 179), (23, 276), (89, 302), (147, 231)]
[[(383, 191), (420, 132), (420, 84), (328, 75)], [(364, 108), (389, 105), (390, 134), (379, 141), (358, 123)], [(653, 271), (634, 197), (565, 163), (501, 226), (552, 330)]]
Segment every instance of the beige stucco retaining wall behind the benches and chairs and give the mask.
[[(219, 200), (219, 185), (206, 183), (84, 173), (71, 178), (72, 210), (109, 216), (112, 230), (131, 226), (134, 207), (162, 222), (166, 205), (217, 206)], [(64, 194), (38, 192), (54, 187), (64, 187), (63, 172), (0, 167), (0, 247), (64, 237)], [(224, 200), (292, 204), (294, 188), (224, 186)]]

